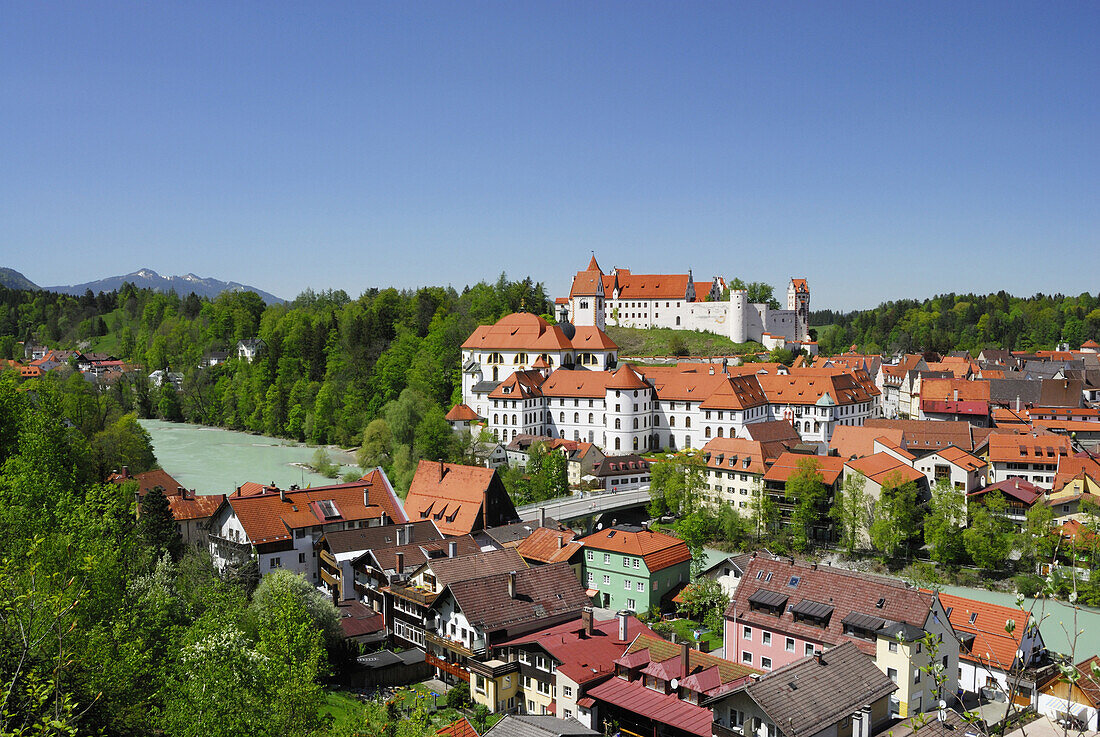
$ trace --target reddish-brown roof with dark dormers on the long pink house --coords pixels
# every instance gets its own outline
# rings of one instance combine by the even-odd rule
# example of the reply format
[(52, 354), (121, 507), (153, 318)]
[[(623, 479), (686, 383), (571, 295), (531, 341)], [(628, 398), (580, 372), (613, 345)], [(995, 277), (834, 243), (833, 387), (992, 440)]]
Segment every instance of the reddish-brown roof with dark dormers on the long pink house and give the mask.
[[(805, 600), (832, 606), (833, 612), (825, 626), (821, 627), (798, 622), (793, 612), (785, 608), (779, 616), (754, 610), (749, 598), (763, 592), (782, 594), (792, 607)], [(813, 642), (839, 645), (854, 641), (864, 652), (873, 656), (873, 641), (845, 635), (843, 623), (849, 615), (867, 615), (888, 626), (893, 623), (923, 628), (934, 602), (934, 595), (894, 579), (758, 556), (749, 561), (726, 609), (726, 617), (736, 617), (739, 624), (788, 632)]]

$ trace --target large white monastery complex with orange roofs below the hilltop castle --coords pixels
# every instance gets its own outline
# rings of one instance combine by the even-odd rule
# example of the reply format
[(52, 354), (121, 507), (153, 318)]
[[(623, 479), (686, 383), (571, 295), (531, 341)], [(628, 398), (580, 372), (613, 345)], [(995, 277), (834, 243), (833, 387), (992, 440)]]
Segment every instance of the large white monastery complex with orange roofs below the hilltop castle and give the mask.
[[(590, 311), (600, 305), (587, 304)], [(846, 367), (617, 364), (618, 346), (598, 326), (514, 314), (462, 344), (462, 398), (502, 442), (536, 435), (616, 454), (702, 448), (776, 420), (803, 442), (824, 444), (838, 425), (862, 425), (879, 393), (866, 371)]]

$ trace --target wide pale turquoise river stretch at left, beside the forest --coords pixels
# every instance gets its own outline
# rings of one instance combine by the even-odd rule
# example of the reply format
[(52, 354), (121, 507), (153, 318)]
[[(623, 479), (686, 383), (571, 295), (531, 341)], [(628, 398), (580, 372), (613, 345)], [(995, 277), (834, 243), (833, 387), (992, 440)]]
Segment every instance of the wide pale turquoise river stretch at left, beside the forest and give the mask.
[[(229, 494), (246, 481), (320, 486), (339, 483), (319, 473), (293, 465), (311, 463), (316, 447), (280, 438), (234, 432), (221, 428), (140, 420), (153, 440), (161, 468), (187, 488), (199, 494)], [(351, 453), (329, 449), (340, 473), (358, 470)]]

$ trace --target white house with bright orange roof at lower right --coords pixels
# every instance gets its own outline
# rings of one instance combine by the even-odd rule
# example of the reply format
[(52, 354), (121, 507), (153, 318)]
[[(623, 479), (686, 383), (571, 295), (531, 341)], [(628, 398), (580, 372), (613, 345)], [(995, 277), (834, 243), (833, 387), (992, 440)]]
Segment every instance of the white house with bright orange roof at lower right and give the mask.
[(1050, 659), (1038, 625), (1028, 627), (1027, 612), (944, 593), (939, 601), (959, 637), (959, 688), (970, 693), (1000, 691), (1005, 696), (1011, 691), (1018, 705), (1036, 706), (1038, 680), (1050, 671), (1040, 669), (1050, 666)]

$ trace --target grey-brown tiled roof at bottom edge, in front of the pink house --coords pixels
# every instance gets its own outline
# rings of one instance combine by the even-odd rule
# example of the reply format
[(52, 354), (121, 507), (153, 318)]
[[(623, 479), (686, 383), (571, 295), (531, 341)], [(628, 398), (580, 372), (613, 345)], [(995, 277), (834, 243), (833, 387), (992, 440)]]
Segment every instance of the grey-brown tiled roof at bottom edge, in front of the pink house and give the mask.
[(809, 737), (898, 690), (851, 642), (803, 658), (745, 692), (787, 737)]

